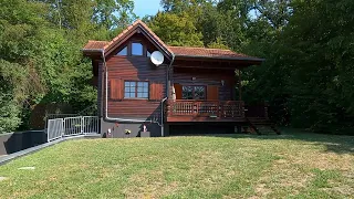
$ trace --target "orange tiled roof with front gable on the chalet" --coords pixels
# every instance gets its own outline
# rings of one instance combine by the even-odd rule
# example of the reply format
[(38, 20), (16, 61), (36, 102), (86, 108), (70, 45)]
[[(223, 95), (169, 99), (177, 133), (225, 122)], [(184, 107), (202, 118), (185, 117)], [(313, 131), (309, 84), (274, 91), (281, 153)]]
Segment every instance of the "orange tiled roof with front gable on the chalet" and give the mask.
[(231, 50), (207, 49), (207, 48), (188, 48), (188, 46), (168, 46), (166, 45), (142, 20), (135, 21), (132, 25), (125, 29), (121, 34), (112, 41), (92, 41), (90, 40), (83, 48), (83, 52), (104, 51), (110, 52), (121, 41), (126, 39), (134, 30), (143, 30), (165, 53), (175, 55), (176, 57), (207, 57), (222, 60), (249, 60), (262, 62), (263, 59), (249, 56), (242, 53), (236, 53)]

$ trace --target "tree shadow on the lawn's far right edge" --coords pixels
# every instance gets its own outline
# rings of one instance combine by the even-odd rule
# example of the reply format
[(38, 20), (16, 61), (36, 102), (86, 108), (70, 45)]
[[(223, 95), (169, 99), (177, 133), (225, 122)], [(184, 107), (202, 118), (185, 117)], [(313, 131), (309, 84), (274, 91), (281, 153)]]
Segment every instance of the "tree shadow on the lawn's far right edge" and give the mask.
[(324, 146), (327, 153), (354, 155), (354, 136), (327, 135), (309, 133), (303, 129), (282, 128), (282, 135), (277, 134), (175, 134), (174, 136), (205, 136), (226, 138), (252, 138), (262, 140), (300, 140), (310, 145)]

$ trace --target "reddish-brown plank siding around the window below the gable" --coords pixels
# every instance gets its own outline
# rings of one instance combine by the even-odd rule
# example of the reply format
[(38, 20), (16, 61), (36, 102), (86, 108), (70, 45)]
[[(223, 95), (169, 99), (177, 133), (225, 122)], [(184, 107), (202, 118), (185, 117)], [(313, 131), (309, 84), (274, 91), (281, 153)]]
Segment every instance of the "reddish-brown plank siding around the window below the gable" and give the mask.
[[(160, 101), (166, 96), (166, 65), (156, 67), (150, 64), (148, 57), (144, 56), (111, 56), (107, 62), (108, 71), (108, 116), (123, 118), (159, 118)], [(149, 100), (126, 100), (111, 96), (112, 85), (115, 81), (148, 81), (150, 84)], [(114, 82), (112, 84), (112, 82)], [(153, 91), (152, 91), (152, 85)], [(105, 91), (103, 91), (104, 95)], [(116, 94), (113, 92), (113, 94)], [(105, 107), (103, 107), (104, 109)]]

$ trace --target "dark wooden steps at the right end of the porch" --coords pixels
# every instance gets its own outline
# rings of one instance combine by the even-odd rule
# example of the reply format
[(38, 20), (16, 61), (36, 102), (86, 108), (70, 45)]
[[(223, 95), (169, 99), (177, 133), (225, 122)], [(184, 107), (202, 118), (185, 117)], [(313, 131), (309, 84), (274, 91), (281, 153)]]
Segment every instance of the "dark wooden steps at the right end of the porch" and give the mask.
[(268, 118), (247, 118), (249, 127), (251, 127), (258, 135), (262, 134), (272, 134), (275, 133), (280, 135), (280, 130), (275, 127), (275, 125)]

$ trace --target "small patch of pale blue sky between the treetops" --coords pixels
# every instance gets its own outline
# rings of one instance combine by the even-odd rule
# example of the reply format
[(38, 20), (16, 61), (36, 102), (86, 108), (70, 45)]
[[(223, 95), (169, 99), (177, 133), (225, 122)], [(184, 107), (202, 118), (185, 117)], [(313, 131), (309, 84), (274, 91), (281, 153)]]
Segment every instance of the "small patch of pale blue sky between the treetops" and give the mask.
[(162, 10), (160, 0), (134, 0), (134, 12), (142, 19), (146, 14), (156, 14)]

